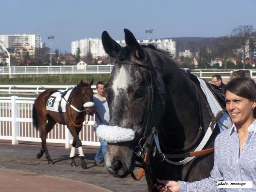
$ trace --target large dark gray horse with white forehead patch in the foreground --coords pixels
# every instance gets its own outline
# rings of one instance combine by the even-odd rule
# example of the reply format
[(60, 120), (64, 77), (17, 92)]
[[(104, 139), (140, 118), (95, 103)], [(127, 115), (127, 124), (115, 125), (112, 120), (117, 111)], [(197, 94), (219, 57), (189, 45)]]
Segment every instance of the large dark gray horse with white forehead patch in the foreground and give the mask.
[[(140, 46), (129, 30), (124, 31), (126, 47), (107, 32), (102, 33), (105, 52), (115, 58), (105, 85), (110, 125), (101, 126), (98, 132), (108, 141), (106, 168), (114, 177), (126, 177), (148, 148), (142, 166), (149, 191), (157, 191), (156, 178), (193, 181), (208, 177), (214, 161), (212, 152), (184, 161), (184, 154), (195, 150), (212, 120), (199, 83), (164, 52), (151, 45)], [(153, 133), (158, 136), (153, 137)], [(218, 133), (215, 128), (205, 148), (214, 146)], [(171, 158), (169, 162), (163, 154), (170, 154), (166, 156)]]

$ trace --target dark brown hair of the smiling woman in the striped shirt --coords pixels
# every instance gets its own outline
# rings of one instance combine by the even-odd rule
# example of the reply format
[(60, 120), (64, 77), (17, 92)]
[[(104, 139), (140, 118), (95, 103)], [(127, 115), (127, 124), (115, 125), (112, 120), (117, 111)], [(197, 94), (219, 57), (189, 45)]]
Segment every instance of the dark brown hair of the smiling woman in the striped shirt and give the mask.
[(227, 90), (250, 101), (256, 101), (256, 83), (249, 77), (232, 79), (227, 83), (225, 93)]

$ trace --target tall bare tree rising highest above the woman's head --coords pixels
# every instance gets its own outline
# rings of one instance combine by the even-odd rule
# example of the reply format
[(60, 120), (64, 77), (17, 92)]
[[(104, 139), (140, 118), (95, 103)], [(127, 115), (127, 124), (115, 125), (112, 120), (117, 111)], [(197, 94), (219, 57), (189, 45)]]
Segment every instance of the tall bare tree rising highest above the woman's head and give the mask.
[(240, 25), (232, 31), (232, 35), (237, 37), (237, 41), (243, 49), (243, 68), (245, 68), (246, 46), (253, 41), (252, 33), (254, 31), (252, 25)]

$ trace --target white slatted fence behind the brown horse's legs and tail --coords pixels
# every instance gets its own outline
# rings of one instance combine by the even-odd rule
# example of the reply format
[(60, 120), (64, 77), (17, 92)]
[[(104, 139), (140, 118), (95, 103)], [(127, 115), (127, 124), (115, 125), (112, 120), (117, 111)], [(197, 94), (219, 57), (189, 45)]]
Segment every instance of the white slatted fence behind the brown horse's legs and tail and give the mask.
[[(39, 131), (32, 124), (34, 100), (17, 96), (0, 98), (0, 140), (12, 140), (13, 145), (19, 141), (41, 142)], [(88, 124), (84, 124), (79, 134), (82, 145), (100, 145), (93, 125), (94, 117), (90, 116)], [(47, 136), (47, 142), (65, 144), (66, 148), (71, 147), (72, 139), (67, 126), (58, 123)]]

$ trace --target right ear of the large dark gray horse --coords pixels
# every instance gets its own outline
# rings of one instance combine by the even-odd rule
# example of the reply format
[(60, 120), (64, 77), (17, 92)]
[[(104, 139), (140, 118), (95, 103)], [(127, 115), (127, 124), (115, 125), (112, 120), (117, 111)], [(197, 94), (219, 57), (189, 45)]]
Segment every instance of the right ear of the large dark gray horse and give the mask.
[(128, 30), (124, 29), (125, 32), (125, 43), (127, 47), (131, 49), (131, 51), (134, 53), (134, 55), (138, 59), (143, 59), (145, 58), (143, 48), (140, 46), (134, 35)]

